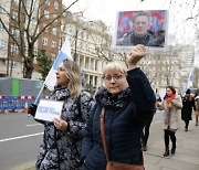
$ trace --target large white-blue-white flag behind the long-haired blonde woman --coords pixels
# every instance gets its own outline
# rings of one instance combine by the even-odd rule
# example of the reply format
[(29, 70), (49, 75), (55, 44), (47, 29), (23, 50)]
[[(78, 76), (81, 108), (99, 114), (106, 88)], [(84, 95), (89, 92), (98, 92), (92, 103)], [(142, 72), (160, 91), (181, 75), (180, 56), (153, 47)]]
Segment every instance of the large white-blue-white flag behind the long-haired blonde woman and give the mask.
[(52, 65), (50, 72), (45, 78), (45, 82), (43, 83), (50, 91), (54, 89), (54, 86), (56, 84), (56, 74), (55, 73), (57, 71), (59, 65), (65, 59), (73, 61), (73, 59), (71, 56), (71, 44), (70, 44), (69, 39), (66, 39), (64, 44), (62, 45), (62, 49), (61, 49), (59, 55), (56, 56), (56, 60), (54, 61), (54, 64)]

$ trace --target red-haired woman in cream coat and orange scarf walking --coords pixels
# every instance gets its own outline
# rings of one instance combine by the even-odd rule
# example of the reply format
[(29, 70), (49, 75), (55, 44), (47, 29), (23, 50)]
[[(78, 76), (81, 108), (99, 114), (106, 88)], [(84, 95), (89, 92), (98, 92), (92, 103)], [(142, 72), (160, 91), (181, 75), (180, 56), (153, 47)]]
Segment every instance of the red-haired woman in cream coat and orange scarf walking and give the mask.
[(164, 139), (165, 153), (164, 157), (169, 156), (169, 138), (172, 142), (171, 155), (176, 152), (176, 131), (178, 129), (178, 116), (182, 108), (181, 97), (176, 95), (176, 89), (172, 86), (167, 86), (166, 95), (163, 103), (156, 103), (156, 107), (164, 113)]

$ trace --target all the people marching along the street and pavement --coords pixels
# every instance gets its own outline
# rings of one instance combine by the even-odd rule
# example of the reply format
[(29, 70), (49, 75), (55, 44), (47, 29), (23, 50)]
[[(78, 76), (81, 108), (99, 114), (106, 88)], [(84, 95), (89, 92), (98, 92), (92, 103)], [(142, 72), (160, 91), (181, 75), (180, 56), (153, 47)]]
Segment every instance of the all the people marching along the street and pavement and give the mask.
[[(148, 78), (137, 67), (145, 54), (145, 46), (138, 44), (126, 59), (126, 65), (108, 63), (102, 73), (105, 86), (94, 97), (82, 87), (81, 71), (75, 62), (64, 60), (60, 64), (50, 99), (63, 102), (61, 117), (53, 121), (35, 119), (44, 126), (35, 163), (38, 170), (105, 170), (107, 156), (100, 124), (103, 110), (108, 160), (143, 164), (156, 109), (164, 110), (164, 157), (175, 155), (178, 115), (181, 111), (187, 131), (193, 108), (198, 126), (199, 96), (192, 97), (188, 89), (181, 98), (174, 86), (167, 86), (164, 98), (156, 99)], [(34, 117), (36, 107), (31, 104), (28, 114)]]

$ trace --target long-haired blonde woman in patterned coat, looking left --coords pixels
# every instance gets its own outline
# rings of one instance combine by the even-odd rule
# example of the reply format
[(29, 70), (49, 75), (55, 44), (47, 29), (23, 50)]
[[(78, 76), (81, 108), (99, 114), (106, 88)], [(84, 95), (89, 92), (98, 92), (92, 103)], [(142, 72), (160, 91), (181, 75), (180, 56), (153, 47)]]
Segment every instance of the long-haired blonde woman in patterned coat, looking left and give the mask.
[[(43, 142), (36, 161), (36, 170), (81, 170), (82, 140), (86, 121), (94, 106), (94, 98), (82, 91), (81, 72), (76, 63), (65, 60), (56, 72), (56, 84), (51, 100), (63, 100), (60, 119), (44, 125)], [(36, 106), (28, 113), (35, 115)], [(41, 121), (40, 121), (41, 123)]]

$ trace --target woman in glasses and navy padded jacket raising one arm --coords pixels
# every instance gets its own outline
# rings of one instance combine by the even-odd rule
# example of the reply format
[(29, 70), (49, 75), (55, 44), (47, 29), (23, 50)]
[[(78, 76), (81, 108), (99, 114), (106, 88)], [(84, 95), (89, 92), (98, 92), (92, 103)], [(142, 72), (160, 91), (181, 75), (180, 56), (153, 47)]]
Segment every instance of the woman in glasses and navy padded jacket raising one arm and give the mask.
[(145, 46), (134, 46), (126, 60), (128, 71), (118, 63), (103, 70), (105, 88), (96, 95), (96, 104), (83, 139), (82, 159), (85, 170), (105, 170), (106, 158), (100, 129), (100, 115), (105, 108), (105, 138), (112, 161), (142, 164), (142, 130), (154, 115), (155, 94), (144, 72), (136, 67), (145, 56)]

